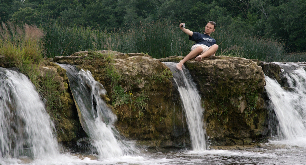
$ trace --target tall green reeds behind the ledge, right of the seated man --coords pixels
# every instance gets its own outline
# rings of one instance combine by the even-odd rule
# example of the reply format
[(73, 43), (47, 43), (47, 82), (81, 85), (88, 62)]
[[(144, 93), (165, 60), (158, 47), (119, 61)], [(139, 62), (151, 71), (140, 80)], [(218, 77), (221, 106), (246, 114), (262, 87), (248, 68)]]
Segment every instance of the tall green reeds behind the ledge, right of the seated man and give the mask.
[(258, 59), (266, 62), (282, 61), (287, 54), (284, 44), (249, 34), (217, 27), (212, 33), (219, 45), (217, 55)]

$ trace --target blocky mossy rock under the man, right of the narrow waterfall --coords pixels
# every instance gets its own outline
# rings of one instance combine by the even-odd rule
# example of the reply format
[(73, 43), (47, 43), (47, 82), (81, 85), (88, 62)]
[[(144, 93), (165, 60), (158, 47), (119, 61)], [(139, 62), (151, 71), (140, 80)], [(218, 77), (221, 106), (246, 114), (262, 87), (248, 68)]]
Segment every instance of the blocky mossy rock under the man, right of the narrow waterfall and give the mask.
[[(160, 60), (181, 59), (173, 56)], [(246, 145), (267, 135), (261, 66), (249, 59), (226, 56), (201, 62), (192, 59), (184, 65), (202, 95), (207, 135), (215, 145)]]

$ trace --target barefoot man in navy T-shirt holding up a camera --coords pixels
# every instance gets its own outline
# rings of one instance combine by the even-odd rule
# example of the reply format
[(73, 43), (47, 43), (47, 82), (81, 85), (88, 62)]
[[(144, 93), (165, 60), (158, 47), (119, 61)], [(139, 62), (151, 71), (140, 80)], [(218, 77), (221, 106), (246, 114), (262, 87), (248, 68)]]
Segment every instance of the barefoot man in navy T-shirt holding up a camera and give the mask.
[(201, 61), (204, 57), (215, 56), (219, 46), (216, 44), (216, 40), (210, 37), (210, 34), (214, 32), (216, 28), (216, 23), (214, 21), (209, 21), (206, 24), (204, 34), (192, 32), (182, 25), (183, 23), (180, 24), (180, 29), (189, 35), (189, 40), (196, 41), (196, 44), (191, 47), (191, 52), (176, 64), (177, 69), (182, 70), (183, 64), (196, 56), (196, 61)]

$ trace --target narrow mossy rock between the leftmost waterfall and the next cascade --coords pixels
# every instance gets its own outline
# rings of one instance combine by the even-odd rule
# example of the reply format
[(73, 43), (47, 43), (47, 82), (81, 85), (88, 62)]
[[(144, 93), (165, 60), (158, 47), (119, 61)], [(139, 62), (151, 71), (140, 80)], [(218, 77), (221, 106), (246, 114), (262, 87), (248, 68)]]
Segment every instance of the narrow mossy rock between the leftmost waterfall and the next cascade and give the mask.
[[(41, 78), (53, 75), (53, 81), (58, 84), (58, 99), (56, 104), (60, 107), (47, 107), (50, 116), (53, 118), (57, 130), (59, 142), (67, 143), (84, 136), (80, 128), (76, 108), (72, 95), (68, 88), (68, 77), (66, 70), (57, 64), (50, 62), (50, 58), (45, 58), (39, 66)], [(53, 91), (55, 93), (55, 91)]]

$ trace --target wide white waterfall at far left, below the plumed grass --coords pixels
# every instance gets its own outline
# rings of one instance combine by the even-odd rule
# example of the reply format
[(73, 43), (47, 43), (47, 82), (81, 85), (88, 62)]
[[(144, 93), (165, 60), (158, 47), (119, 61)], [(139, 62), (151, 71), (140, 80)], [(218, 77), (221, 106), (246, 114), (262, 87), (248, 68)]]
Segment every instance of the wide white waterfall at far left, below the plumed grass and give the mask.
[(54, 130), (28, 77), (0, 67), (0, 158), (59, 154)]

